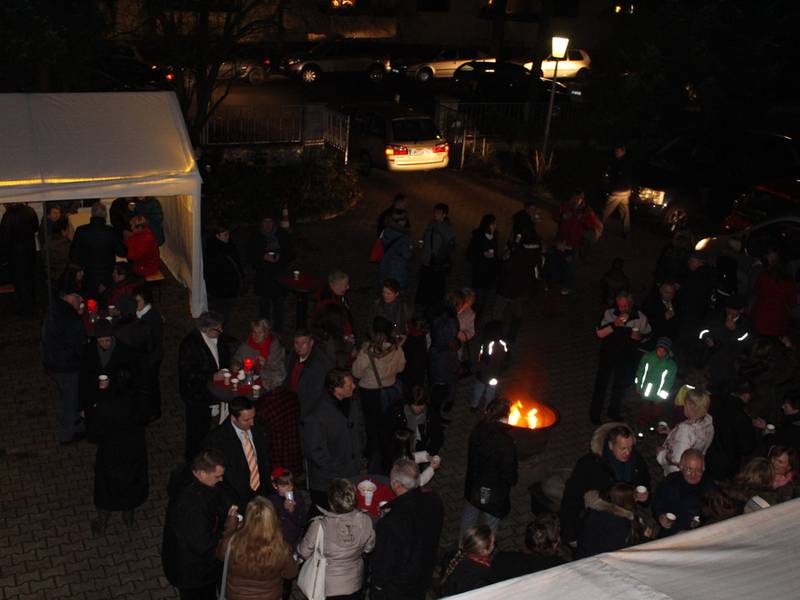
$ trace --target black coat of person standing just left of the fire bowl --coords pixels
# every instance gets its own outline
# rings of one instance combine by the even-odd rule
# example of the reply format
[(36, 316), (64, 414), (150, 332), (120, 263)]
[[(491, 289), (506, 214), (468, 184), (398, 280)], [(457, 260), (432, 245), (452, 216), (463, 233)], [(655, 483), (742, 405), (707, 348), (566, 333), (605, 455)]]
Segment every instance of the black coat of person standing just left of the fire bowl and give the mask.
[(479, 422), (469, 436), (464, 498), (502, 519), (511, 511), (511, 488), (518, 478), (517, 447), (509, 426), (499, 421)]

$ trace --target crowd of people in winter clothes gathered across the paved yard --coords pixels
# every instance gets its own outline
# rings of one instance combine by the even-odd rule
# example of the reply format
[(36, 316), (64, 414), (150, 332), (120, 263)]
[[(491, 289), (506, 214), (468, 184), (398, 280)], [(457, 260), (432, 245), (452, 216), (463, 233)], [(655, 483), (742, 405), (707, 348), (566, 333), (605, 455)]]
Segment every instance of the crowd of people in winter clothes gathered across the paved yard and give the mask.
[[(624, 187), (625, 170), (617, 171)], [(616, 191), (605, 219), (627, 208), (625, 190)], [(774, 240), (757, 261), (735, 248), (711, 257), (681, 232), (658, 257), (640, 303), (621, 260), (603, 278), (587, 398), (598, 425), (591, 451), (543, 486), (550, 510), (531, 516), (523, 550), (496, 548), (518, 481), (511, 405), (498, 380), (531, 298), (573, 293), (578, 263), (606, 229), (576, 190), (554, 212), (557, 234), (545, 243), (540, 210), (527, 203), (507, 238), (484, 215), (461, 243), (449, 207), (436, 204), (415, 242), (407, 199), (395, 197), (377, 222), (370, 259), (380, 291), (361, 313), (366, 330), (354, 318), (350, 277), (338, 270), (314, 293), (308, 323), (287, 329), (280, 280), (295, 252), (277, 216), (265, 216), (241, 245), (228, 224), (209, 228), (210, 310), (178, 348), (185, 462), (170, 479), (162, 547), (182, 598), (216, 598), (221, 587), (232, 600), (277, 599), (294, 579), (311, 600), (358, 600), (367, 590), (387, 599), (423, 598), (432, 588), (451, 595), (798, 495), (796, 295), (785, 249)], [(163, 319), (144, 279), (158, 270), (160, 211), (149, 200), (120, 199), (110, 212), (107, 225), (105, 206), (94, 204), (68, 244), (54, 209), (32, 233), (47, 227), (53, 250), (46, 272), (58, 291), (42, 357), (60, 395), (58, 439), (97, 443), (98, 534), (114, 512), (132, 527), (148, 496), (145, 428), (161, 414), (164, 356)], [(54, 244), (66, 249), (60, 262)], [(458, 251), (471, 286), (450, 289)], [(258, 309), (239, 341), (227, 328), (250, 281)], [(245, 368), (257, 393), (222, 398), (220, 387)], [(442, 561), (444, 509), (429, 484), (443, 466), (460, 386), (470, 388), (480, 417), (468, 442), (459, 546)], [(649, 458), (663, 476), (653, 477), (636, 443), (660, 435)], [(365, 475), (388, 490), (372, 512), (363, 510)], [(309, 584), (320, 573), (324, 585)]]

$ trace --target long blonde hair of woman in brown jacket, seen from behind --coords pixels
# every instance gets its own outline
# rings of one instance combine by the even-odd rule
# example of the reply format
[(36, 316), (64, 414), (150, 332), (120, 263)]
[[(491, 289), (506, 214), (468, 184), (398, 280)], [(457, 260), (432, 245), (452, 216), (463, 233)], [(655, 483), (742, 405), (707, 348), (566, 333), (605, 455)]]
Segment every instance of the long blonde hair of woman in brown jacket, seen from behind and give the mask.
[(278, 513), (263, 496), (256, 496), (247, 504), (244, 522), (230, 544), (231, 560), (248, 570), (278, 568), (291, 554)]

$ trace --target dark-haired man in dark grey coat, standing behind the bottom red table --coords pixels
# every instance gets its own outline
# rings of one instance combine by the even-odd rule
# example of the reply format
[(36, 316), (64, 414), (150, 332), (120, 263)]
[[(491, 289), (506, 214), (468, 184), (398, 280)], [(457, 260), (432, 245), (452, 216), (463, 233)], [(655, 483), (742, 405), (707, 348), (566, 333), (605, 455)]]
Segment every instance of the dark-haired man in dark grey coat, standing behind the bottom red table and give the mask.
[(317, 407), (301, 421), (300, 441), (308, 461), (308, 485), (314, 504), (327, 508), (328, 486), (361, 472), (366, 433), (361, 402), (348, 371), (332, 369)]

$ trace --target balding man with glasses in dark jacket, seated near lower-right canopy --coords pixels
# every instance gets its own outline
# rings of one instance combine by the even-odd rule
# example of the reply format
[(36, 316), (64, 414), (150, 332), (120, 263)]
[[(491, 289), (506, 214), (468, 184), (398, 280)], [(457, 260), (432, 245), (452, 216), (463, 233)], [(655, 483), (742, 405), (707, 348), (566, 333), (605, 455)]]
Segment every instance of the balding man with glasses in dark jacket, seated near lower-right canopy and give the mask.
[(699, 450), (686, 450), (681, 456), (680, 469), (667, 475), (653, 498), (653, 516), (661, 525), (659, 537), (699, 527), (703, 495), (715, 488), (705, 474), (705, 457)]

